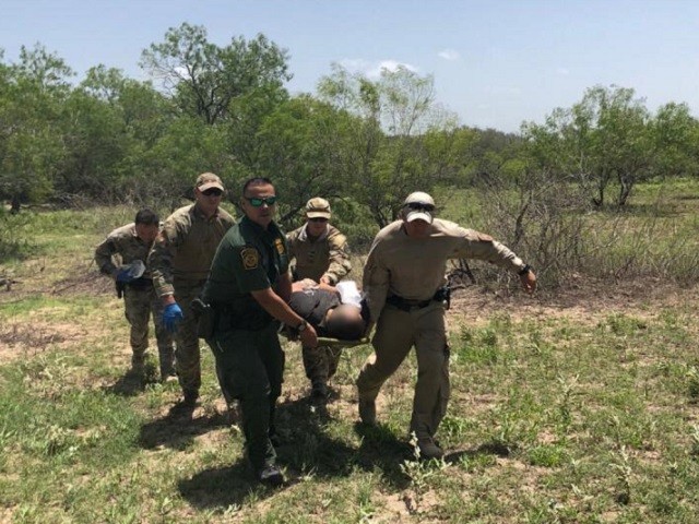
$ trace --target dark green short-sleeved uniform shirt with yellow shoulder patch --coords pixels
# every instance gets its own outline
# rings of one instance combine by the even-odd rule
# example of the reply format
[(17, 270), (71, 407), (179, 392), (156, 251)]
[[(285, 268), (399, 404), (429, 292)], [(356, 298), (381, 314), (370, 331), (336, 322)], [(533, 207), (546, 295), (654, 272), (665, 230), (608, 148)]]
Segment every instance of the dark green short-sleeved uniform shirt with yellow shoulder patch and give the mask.
[(287, 272), (284, 233), (275, 223), (263, 229), (244, 216), (218, 245), (204, 286), (204, 300), (227, 308), (241, 325), (261, 318), (270, 320), (250, 291), (274, 289), (280, 276)]

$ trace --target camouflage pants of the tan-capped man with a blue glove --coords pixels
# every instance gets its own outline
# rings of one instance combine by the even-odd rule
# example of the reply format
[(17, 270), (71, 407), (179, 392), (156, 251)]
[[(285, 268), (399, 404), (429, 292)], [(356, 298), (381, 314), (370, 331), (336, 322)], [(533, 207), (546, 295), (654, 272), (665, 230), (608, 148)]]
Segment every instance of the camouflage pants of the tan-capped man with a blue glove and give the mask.
[(200, 298), (204, 282), (193, 286), (175, 286), (175, 300), (182, 310), (182, 321), (175, 333), (177, 379), (182, 391), (199, 391), (201, 386), (201, 353), (197, 335), (197, 318), (192, 300)]

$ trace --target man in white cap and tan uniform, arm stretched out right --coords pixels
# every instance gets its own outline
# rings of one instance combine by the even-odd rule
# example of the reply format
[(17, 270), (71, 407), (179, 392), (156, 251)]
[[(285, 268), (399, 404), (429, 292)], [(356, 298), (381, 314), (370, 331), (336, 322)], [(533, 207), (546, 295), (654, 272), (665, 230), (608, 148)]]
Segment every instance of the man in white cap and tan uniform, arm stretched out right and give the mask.
[(357, 379), (359, 417), (374, 425), (379, 389), (415, 346), (411, 431), (425, 458), (443, 455), (434, 437), (449, 401), (449, 347), (440, 294), (447, 260), (487, 260), (518, 273), (525, 290), (536, 287), (536, 276), (512, 251), (487, 235), (433, 218), (434, 210), (429, 194), (411, 193), (402, 219), (381, 229), (374, 240), (364, 269), (364, 293), (371, 321), (377, 322), (375, 354)]

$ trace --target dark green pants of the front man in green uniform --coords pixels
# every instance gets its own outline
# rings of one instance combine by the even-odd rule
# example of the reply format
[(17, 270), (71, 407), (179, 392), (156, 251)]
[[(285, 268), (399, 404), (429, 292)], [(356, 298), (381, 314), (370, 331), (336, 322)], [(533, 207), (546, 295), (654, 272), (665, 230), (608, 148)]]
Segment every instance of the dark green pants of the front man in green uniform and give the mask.
[(208, 341), (224, 396), (240, 403), (248, 458), (256, 469), (273, 465), (276, 458), (269, 437), (274, 428), (274, 406), (282, 394), (285, 358), (277, 326), (271, 322), (262, 330), (247, 331), (220, 319)]

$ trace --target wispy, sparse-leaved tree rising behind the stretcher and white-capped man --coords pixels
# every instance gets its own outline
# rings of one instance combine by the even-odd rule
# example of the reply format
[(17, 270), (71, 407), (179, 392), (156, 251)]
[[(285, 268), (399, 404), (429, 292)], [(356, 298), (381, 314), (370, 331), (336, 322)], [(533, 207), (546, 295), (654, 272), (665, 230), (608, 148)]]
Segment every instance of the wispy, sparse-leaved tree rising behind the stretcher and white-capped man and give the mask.
[(351, 194), (379, 227), (395, 218), (407, 193), (429, 191), (445, 176), (445, 162), (434, 160), (438, 153), (450, 155), (449, 140), (438, 139), (450, 136), (455, 119), (436, 104), (431, 76), (400, 67), (371, 81), (333, 66), (319, 94), (357, 117), (348, 129), (345, 170)]

